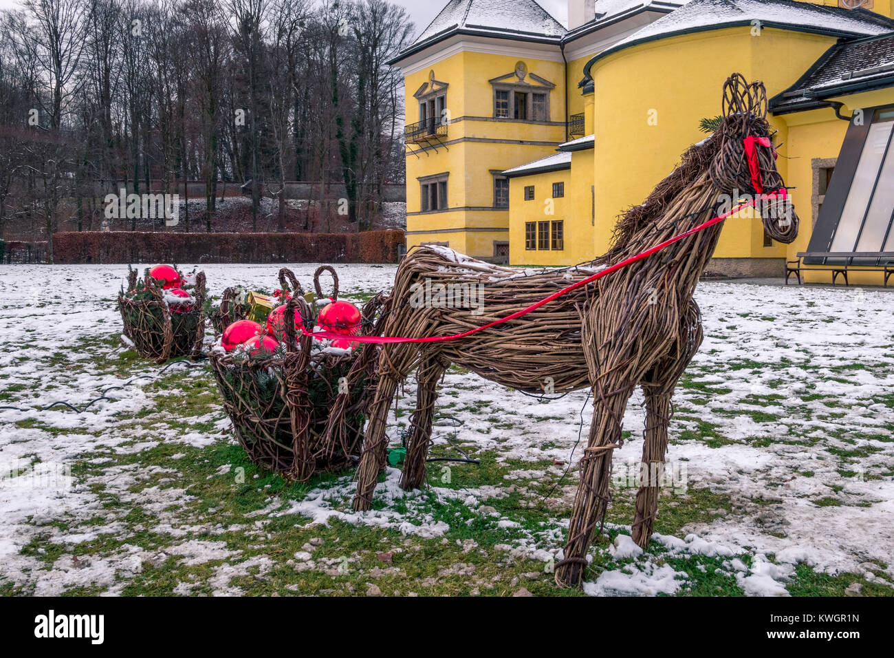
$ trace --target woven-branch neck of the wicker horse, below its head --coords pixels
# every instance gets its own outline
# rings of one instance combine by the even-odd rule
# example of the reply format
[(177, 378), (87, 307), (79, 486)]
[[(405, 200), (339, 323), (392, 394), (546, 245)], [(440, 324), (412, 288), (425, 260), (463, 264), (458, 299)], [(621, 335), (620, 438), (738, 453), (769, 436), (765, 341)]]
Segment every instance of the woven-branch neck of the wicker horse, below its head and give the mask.
[[(676, 235), (704, 224), (714, 216), (717, 195), (717, 189), (707, 172), (704, 172), (693, 184), (687, 186), (665, 205), (659, 218), (632, 236), (629, 243), (620, 251), (617, 261), (645, 252), (656, 244), (666, 242)], [(646, 263), (645, 267), (651, 265), (656, 276), (661, 275), (662, 271), (669, 272), (679, 281), (680, 286), (691, 288), (695, 286), (698, 277), (711, 260), (717, 239), (720, 237), (721, 226), (722, 223), (709, 226), (695, 235), (665, 247), (641, 262)]]

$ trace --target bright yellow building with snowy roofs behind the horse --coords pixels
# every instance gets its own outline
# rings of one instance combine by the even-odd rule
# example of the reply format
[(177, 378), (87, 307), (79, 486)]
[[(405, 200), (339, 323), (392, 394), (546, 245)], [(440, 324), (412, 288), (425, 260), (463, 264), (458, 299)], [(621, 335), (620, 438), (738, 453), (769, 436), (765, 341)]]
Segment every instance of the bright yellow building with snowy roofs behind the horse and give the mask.
[[(772, 97), (777, 166), (801, 228), (794, 244), (776, 244), (759, 218), (732, 218), (709, 269), (782, 276), (798, 253), (849, 244), (853, 227), (838, 230), (821, 217), (831, 213), (823, 201), (833, 197), (841, 222), (847, 216), (853, 224), (860, 221), (854, 200), (866, 194), (835, 163), (848, 143), (888, 134), (877, 125), (887, 121), (884, 112), (873, 110), (863, 132), (849, 119), (862, 108), (894, 106), (886, 73), (894, 53), (890, 0), (851, 8), (858, 4), (571, 0), (567, 30), (534, 2), (451, 0), (393, 62), (406, 81), (408, 248), (447, 244), (513, 265), (595, 258), (620, 213), (645, 200), (704, 139), (699, 122), (720, 114), (721, 85), (733, 72), (763, 81)], [(850, 77), (834, 78), (842, 71)], [(845, 159), (859, 159), (858, 151)], [(849, 261), (852, 283), (883, 276), (870, 255), (885, 252), (879, 218), (889, 170), (884, 153), (875, 159), (881, 185), (853, 229), (848, 251), (863, 255)], [(860, 171), (854, 180), (862, 180)], [(818, 218), (817, 230), (831, 236), (824, 248), (814, 236)], [(828, 254), (805, 257), (802, 277), (828, 280), (836, 262)]]

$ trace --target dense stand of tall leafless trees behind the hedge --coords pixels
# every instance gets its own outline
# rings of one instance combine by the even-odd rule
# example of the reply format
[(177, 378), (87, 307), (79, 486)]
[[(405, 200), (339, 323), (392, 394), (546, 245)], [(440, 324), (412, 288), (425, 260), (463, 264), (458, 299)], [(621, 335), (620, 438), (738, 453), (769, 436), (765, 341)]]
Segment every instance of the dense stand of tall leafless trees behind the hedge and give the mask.
[[(15, 216), (50, 251), (63, 211), (90, 229), (120, 184), (179, 179), (189, 201), (198, 177), (212, 230), (218, 187), (250, 179), (252, 228), (266, 190), (281, 231), (290, 178), (318, 184), (321, 210), (343, 185), (365, 230), (402, 180), (402, 80), (385, 62), (412, 26), (387, 0), (24, 0), (0, 30), (0, 230)], [(296, 228), (321, 228), (310, 218)]]

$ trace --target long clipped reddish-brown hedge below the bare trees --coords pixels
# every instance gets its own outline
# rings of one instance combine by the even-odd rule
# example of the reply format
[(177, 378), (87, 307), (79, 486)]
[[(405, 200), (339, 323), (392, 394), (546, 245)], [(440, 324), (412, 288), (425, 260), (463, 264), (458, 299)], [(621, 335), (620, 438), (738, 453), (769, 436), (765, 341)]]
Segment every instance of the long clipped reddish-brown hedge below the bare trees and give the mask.
[(362, 233), (140, 233), (53, 235), (57, 263), (277, 263), (398, 261), (401, 230)]

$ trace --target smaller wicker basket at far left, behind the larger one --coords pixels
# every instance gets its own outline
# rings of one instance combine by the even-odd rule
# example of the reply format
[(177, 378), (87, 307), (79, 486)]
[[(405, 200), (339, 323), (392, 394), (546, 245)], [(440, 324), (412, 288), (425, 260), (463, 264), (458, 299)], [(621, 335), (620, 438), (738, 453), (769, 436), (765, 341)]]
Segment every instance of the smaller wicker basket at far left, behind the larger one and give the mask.
[(127, 292), (118, 295), (124, 336), (134, 349), (158, 363), (183, 355), (195, 359), (205, 338), (205, 272), (196, 275), (188, 298), (171, 295), (148, 273), (137, 286), (137, 271), (131, 269)]

